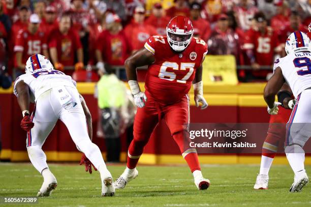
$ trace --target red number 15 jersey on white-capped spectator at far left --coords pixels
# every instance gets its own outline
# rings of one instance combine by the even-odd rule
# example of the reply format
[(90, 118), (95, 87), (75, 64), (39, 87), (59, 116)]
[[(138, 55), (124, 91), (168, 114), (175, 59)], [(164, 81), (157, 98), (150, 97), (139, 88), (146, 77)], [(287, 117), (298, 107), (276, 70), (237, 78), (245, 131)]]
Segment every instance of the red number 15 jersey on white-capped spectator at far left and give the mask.
[(14, 52), (23, 53), (23, 64), (26, 64), (29, 56), (42, 54), (44, 49), (47, 49), (47, 40), (44, 32), (38, 30), (35, 34), (32, 34), (26, 29), (18, 32), (15, 39)]

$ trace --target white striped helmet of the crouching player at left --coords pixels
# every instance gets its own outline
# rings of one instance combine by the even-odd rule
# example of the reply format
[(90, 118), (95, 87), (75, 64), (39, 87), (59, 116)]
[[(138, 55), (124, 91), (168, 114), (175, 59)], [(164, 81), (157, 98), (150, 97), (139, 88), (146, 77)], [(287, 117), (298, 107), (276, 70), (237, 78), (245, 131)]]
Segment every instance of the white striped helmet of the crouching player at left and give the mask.
[(45, 69), (45, 70), (53, 70), (53, 65), (50, 62), (50, 60), (40, 54), (35, 54), (32, 55), (28, 58), (27, 62), (26, 62), (26, 70), (25, 73), (32, 73), (36, 70), (41, 70), (41, 69)]

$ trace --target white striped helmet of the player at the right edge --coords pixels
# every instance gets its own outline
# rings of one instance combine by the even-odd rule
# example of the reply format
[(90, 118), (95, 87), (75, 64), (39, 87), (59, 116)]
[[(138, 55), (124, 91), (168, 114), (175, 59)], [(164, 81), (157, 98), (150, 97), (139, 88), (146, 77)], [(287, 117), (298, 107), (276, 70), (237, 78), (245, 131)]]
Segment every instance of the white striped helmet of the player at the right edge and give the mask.
[(286, 54), (296, 53), (301, 51), (311, 52), (311, 42), (308, 36), (301, 32), (295, 31), (287, 38), (285, 43)]

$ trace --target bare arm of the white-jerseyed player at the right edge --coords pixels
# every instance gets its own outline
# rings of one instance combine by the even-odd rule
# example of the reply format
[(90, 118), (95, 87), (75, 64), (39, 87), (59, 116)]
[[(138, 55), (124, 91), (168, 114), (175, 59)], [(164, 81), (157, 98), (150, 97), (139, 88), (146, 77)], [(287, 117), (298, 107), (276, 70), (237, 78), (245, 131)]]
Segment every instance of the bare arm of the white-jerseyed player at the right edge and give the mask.
[(281, 89), (284, 82), (285, 79), (283, 77), (282, 70), (280, 67), (277, 67), (264, 89), (264, 99), (270, 109), (274, 107), (275, 95), (279, 89)]

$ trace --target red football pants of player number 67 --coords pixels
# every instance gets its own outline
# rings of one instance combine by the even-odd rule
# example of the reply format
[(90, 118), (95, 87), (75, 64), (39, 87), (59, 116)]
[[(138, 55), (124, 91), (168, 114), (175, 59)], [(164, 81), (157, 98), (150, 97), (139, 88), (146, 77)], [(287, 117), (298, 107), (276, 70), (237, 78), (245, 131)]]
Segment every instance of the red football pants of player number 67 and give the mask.
[(157, 126), (159, 120), (164, 119), (191, 171), (200, 170), (196, 150), (184, 147), (184, 143), (188, 142), (189, 139), (188, 136), (184, 137), (184, 129), (186, 129), (190, 120), (188, 94), (172, 105), (161, 105), (147, 92), (146, 96), (145, 106), (137, 110), (134, 119), (134, 139), (129, 146), (128, 168), (136, 167), (155, 126)]

